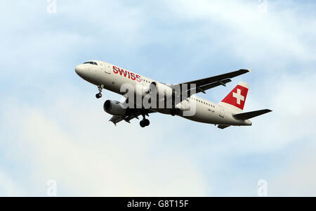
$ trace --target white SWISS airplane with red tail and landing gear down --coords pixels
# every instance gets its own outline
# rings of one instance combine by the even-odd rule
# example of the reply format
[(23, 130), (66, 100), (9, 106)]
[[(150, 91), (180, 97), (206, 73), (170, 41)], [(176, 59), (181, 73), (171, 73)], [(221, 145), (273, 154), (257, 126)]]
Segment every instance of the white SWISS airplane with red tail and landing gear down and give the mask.
[[(139, 103), (132, 103), (135, 106), (124, 107), (124, 103), (125, 105), (129, 103), (129, 98), (131, 98), (129, 96), (126, 97), (126, 101), (123, 103), (107, 100), (103, 108), (106, 113), (112, 115), (110, 122), (113, 122), (115, 126), (121, 121), (131, 123), (131, 120), (139, 120), (139, 117), (142, 116), (143, 120), (140, 121), (140, 127), (147, 127), (150, 125), (150, 120), (146, 117), (149, 117), (152, 113), (162, 113), (172, 116), (177, 115), (195, 122), (214, 124), (219, 129), (225, 129), (230, 126), (251, 126), (251, 118), (272, 112), (272, 110), (265, 109), (243, 113), (246, 96), (249, 91), (249, 84), (245, 82), (240, 82), (220, 103), (213, 103), (196, 96), (196, 94), (201, 92), (206, 94), (206, 90), (214, 87), (226, 87), (226, 84), (232, 82), (232, 78), (252, 72), (252, 70), (242, 69), (223, 75), (173, 85), (157, 82), (154, 79), (100, 60), (89, 60), (77, 65), (74, 70), (79, 77), (98, 87), (96, 98), (102, 97), (103, 89), (126, 97), (126, 92), (121, 91), (123, 84), (130, 84), (133, 88), (140, 87), (140, 91), (137, 91), (137, 89), (136, 91), (135, 89), (133, 90), (133, 95), (140, 96), (142, 100), (148, 94), (152, 96), (152, 93), (154, 96), (157, 96), (157, 101), (159, 102), (166, 101), (166, 98), (180, 97), (180, 101), (172, 101), (171, 106), (163, 108), (155, 106), (145, 107), (143, 104), (139, 105)], [(178, 87), (180, 89), (177, 89)], [(156, 92), (153, 91), (154, 89)], [(184, 106), (185, 104), (189, 106)], [(185, 115), (190, 105), (195, 107), (194, 113)]]

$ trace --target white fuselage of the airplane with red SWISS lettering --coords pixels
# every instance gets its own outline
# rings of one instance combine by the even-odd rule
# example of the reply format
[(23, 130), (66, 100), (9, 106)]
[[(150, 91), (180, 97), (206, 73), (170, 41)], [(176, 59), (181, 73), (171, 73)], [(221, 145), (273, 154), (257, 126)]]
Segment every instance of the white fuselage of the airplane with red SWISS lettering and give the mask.
[[(96, 62), (98, 65), (78, 65), (75, 69), (77, 74), (91, 84), (95, 84), (96, 86), (103, 84), (104, 89), (113, 91), (117, 94), (123, 95), (121, 93), (121, 85), (123, 84), (131, 84), (133, 87), (135, 87), (135, 90), (137, 86), (141, 86), (143, 87), (143, 90), (146, 90), (149, 89), (152, 82), (156, 82), (154, 79), (150, 79), (143, 75), (138, 75), (135, 72), (119, 68), (110, 63), (105, 63), (103, 61), (97, 60), (93, 61)], [(193, 95), (190, 96), (190, 98), (187, 98), (187, 101), (189, 103), (195, 103), (194, 115), (180, 115), (187, 120), (203, 122), (207, 124), (235, 126), (252, 124), (249, 120), (236, 120), (232, 116), (232, 114), (234, 114), (232, 113), (232, 110), (220, 106), (217, 103), (207, 101), (204, 98)], [(181, 109), (183, 107), (182, 103), (183, 102), (176, 105), (176, 108)], [(167, 109), (153, 108), (151, 110), (154, 110), (158, 113), (169, 114), (169, 110)]]

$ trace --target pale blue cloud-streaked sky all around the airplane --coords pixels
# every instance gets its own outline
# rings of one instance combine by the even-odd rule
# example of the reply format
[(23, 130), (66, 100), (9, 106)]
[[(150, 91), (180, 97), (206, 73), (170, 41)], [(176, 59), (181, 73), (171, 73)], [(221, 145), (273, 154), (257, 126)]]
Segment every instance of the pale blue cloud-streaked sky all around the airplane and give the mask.
[[(0, 196), (316, 195), (314, 1), (2, 2)], [(74, 73), (105, 60), (176, 84), (240, 68), (254, 73), (201, 95), (221, 101), (251, 84), (253, 127), (154, 114), (114, 127), (103, 100), (121, 97)]]

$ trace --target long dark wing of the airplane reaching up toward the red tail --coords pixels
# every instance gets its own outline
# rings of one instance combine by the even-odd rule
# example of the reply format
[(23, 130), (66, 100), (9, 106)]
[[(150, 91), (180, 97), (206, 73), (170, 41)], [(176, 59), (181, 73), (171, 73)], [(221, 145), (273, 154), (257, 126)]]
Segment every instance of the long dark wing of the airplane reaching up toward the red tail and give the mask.
[[(192, 82), (185, 82), (182, 84), (174, 84), (171, 85), (171, 88), (173, 89), (177, 89), (177, 87), (180, 86), (180, 89), (182, 91), (187, 91), (187, 97), (190, 97), (192, 94), (197, 94), (199, 92), (203, 92), (204, 94), (206, 93), (205, 91), (208, 89), (213, 89), (214, 87), (218, 87), (220, 85), (226, 87), (226, 84), (228, 84), (229, 82), (232, 82), (232, 78), (233, 77), (237, 77), (239, 75), (244, 75), (247, 72), (252, 72), (252, 70), (237, 70), (234, 72), (228, 72), (225, 73), (223, 75), (217, 75), (217, 76), (213, 76), (213, 77), (207, 77), (204, 79), (199, 79), (199, 80), (195, 80)], [(184, 87), (183, 85), (187, 84), (186, 87)], [(196, 89), (191, 89), (191, 84), (195, 84)], [(183, 99), (184, 100), (184, 99)]]

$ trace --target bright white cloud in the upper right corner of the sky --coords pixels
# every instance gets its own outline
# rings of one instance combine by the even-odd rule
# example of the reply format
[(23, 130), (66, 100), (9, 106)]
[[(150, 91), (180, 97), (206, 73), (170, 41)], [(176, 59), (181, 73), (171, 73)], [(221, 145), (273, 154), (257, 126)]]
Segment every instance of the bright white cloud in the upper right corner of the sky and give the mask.
[(209, 34), (209, 39), (215, 39), (212, 48), (230, 52), (248, 63), (262, 66), (288, 63), (289, 59), (316, 60), (315, 48), (310, 46), (316, 36), (315, 27), (311, 27), (316, 25), (315, 18), (302, 16), (300, 7), (289, 8), (290, 3), (269, 1), (273, 10), (268, 14), (258, 12), (256, 1), (165, 1), (165, 4), (181, 21), (202, 21), (204, 25), (196, 34), (204, 37)]

